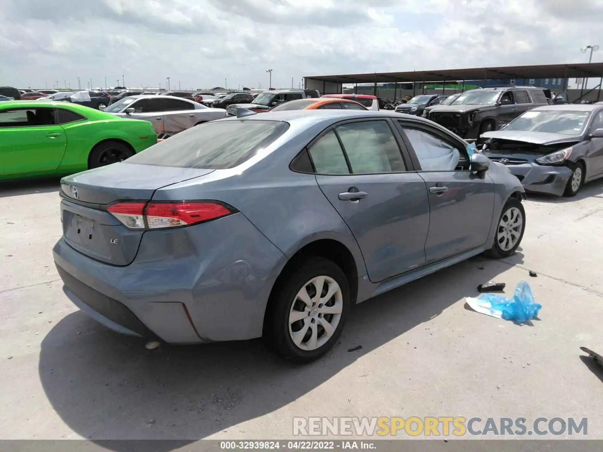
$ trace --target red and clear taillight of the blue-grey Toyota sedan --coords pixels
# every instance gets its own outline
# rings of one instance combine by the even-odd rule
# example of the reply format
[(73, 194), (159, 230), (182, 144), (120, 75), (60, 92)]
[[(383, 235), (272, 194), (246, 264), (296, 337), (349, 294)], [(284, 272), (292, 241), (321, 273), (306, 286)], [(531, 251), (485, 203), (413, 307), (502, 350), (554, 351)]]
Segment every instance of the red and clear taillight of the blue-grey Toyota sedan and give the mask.
[(189, 226), (236, 213), (217, 201), (124, 201), (107, 209), (129, 229), (163, 229)]

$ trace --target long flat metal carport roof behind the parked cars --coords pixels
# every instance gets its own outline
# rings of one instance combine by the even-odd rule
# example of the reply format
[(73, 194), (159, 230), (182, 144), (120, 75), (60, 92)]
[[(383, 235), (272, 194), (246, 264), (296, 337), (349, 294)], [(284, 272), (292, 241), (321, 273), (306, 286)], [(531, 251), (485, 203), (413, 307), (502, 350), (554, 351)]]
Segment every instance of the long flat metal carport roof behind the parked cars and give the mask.
[(473, 67), (441, 71), (373, 72), (372, 74), (311, 75), (311, 80), (336, 83), (411, 83), (500, 78), (584, 78), (602, 77), (603, 63), (540, 64), (538, 66)]

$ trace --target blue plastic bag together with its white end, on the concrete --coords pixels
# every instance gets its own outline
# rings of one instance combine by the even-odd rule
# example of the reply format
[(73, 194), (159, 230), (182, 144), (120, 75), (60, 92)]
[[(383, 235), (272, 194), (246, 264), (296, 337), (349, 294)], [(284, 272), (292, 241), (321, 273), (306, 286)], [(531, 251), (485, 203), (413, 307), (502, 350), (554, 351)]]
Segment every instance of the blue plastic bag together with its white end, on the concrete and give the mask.
[(534, 302), (532, 289), (526, 281), (519, 281), (513, 292), (513, 298), (484, 293), (479, 298), (466, 297), (467, 304), (475, 312), (516, 323), (527, 322), (538, 315), (541, 304)]

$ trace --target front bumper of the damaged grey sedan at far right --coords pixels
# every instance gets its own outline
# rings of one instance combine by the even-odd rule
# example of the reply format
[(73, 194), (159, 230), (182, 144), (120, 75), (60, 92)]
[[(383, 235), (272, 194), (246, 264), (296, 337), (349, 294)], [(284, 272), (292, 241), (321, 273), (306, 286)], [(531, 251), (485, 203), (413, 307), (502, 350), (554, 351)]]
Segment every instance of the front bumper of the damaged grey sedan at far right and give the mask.
[(572, 170), (567, 166), (545, 166), (536, 163), (509, 165), (511, 174), (515, 175), (528, 192), (548, 193), (561, 196), (565, 191), (567, 181), (572, 176)]

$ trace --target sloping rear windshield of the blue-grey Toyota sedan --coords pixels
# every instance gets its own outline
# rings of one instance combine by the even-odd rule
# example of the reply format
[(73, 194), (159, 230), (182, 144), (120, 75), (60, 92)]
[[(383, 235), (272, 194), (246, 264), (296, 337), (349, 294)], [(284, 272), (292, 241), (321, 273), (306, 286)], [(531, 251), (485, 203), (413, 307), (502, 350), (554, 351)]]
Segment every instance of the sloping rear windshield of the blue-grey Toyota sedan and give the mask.
[(281, 121), (207, 122), (130, 157), (126, 163), (177, 168), (229, 169), (251, 159), (289, 128)]

